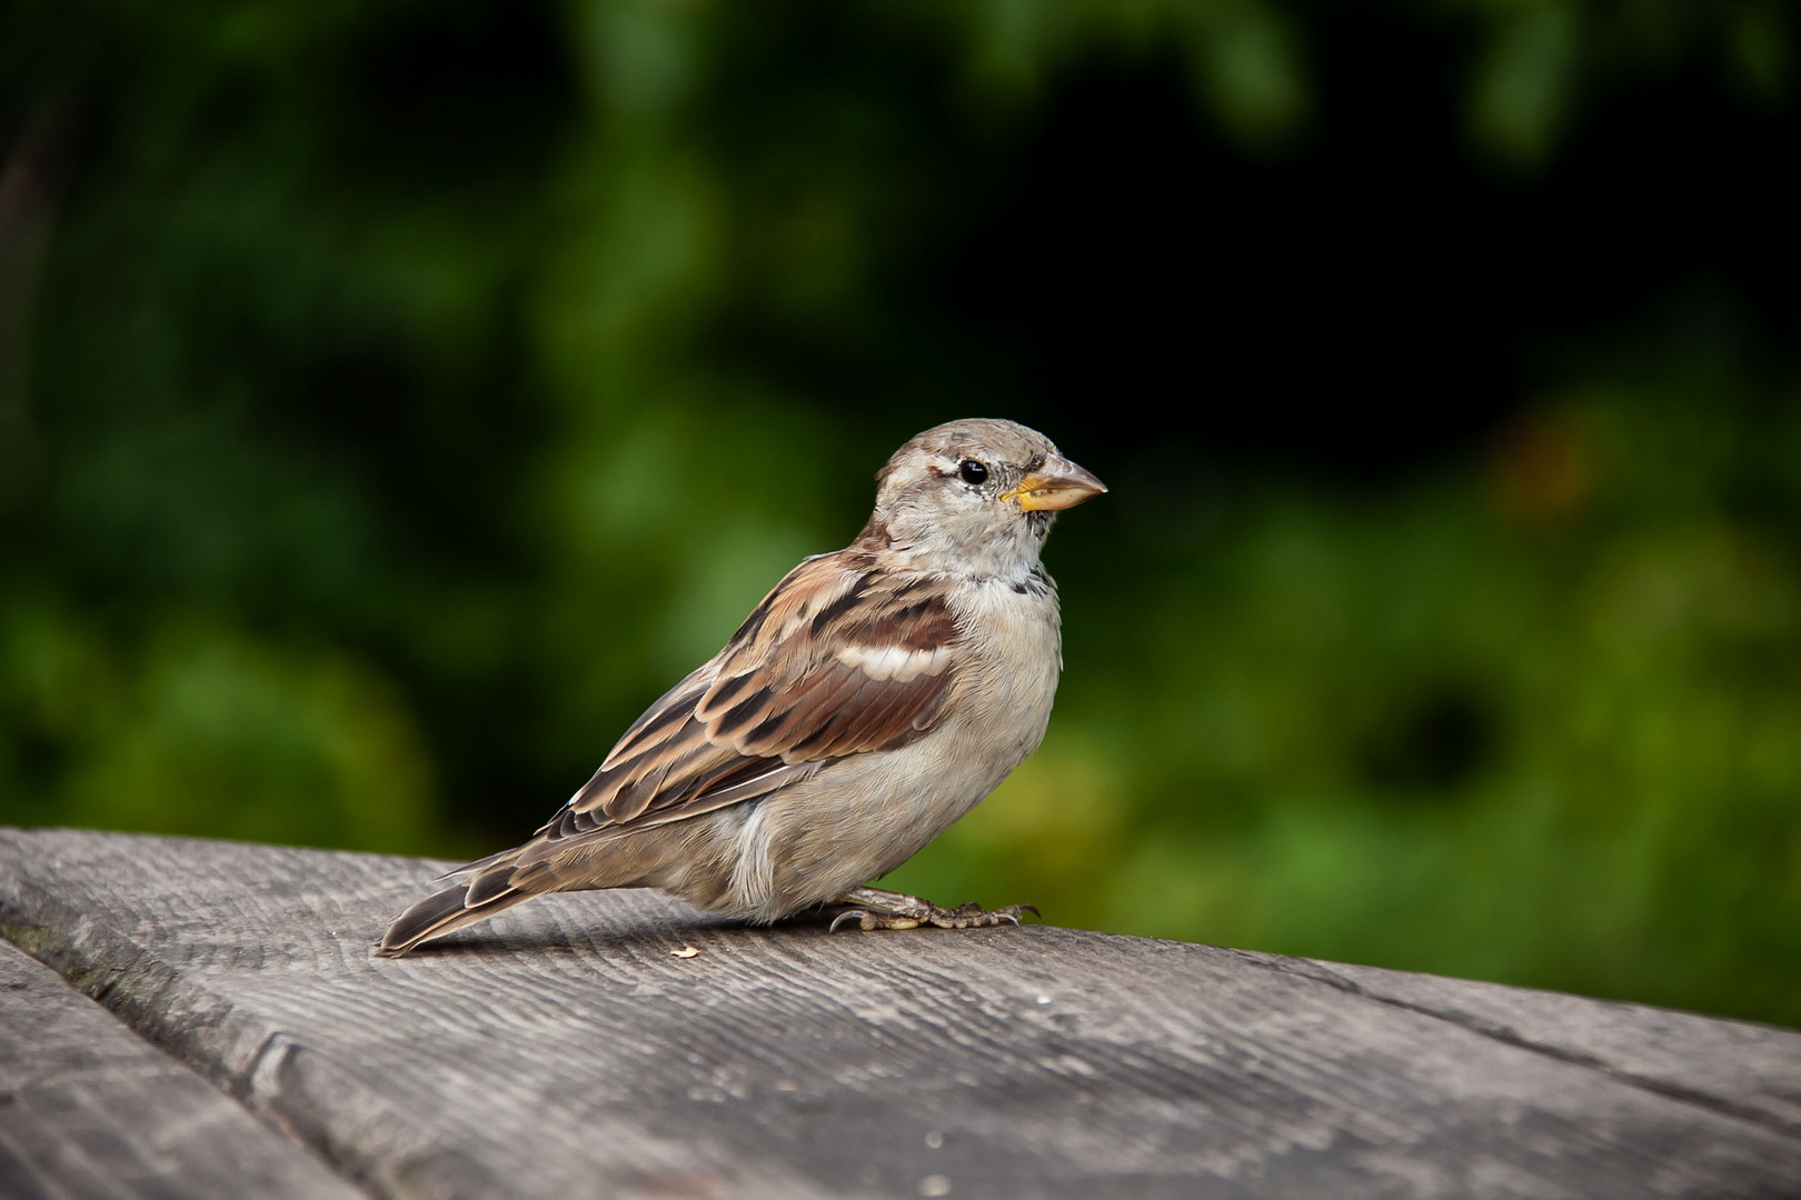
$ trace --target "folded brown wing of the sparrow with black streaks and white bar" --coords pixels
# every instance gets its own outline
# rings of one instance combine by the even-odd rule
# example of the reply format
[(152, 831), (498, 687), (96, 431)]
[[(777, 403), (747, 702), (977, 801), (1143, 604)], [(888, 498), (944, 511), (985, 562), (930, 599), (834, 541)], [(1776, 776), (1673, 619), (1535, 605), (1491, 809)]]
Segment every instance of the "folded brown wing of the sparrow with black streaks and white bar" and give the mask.
[(955, 682), (956, 621), (922, 576), (848, 552), (803, 561), (733, 639), (620, 738), (520, 867), (605, 837), (706, 813), (825, 763), (906, 745)]

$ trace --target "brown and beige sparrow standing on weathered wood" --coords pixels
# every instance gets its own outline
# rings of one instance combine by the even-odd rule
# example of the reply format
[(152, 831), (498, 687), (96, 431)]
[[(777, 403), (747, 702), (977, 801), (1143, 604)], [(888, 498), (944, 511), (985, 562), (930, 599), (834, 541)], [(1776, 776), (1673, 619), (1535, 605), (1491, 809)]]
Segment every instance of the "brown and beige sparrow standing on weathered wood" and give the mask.
[(870, 887), (982, 802), (1045, 738), (1063, 673), (1057, 513), (1106, 491), (1043, 434), (933, 426), (877, 473), (841, 551), (794, 567), (513, 849), (412, 905), (400, 957), (544, 892), (656, 887), (767, 925), (1018, 925), (1032, 905), (946, 909)]

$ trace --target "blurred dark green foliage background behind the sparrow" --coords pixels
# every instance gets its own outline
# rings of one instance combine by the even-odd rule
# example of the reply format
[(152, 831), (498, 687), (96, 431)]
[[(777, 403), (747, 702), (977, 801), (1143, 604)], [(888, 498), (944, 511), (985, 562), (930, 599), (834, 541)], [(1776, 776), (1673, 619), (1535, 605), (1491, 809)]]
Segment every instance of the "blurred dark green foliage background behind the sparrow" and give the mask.
[(0, 13), (0, 820), (479, 855), (913, 432), (1113, 486), (899, 876), (1801, 1024), (1778, 0)]

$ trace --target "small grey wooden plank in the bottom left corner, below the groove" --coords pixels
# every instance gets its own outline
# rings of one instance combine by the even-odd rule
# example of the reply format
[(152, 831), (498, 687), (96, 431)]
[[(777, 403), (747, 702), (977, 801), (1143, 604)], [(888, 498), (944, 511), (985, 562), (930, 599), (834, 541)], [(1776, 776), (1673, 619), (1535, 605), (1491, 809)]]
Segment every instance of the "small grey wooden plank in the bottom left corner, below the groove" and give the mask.
[(360, 1196), (0, 943), (0, 1196)]

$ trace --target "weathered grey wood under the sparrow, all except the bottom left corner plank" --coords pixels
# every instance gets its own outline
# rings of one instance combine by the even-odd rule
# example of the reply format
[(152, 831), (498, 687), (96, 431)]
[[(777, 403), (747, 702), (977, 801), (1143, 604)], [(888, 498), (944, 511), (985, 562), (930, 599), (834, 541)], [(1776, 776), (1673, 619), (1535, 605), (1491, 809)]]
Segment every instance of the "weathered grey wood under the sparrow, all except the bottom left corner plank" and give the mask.
[(0, 932), (376, 1195), (1801, 1195), (1790, 1031), (647, 892), (371, 959), (439, 869), (4, 831)]

